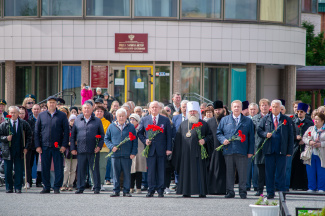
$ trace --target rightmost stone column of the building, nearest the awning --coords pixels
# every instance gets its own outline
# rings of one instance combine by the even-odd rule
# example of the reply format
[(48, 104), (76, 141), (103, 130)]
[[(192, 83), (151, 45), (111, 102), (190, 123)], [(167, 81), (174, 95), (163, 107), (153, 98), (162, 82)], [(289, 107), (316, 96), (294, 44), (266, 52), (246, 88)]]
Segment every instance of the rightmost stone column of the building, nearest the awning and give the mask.
[(285, 66), (284, 72), (287, 76), (285, 86), (282, 88), (286, 89), (286, 109), (287, 113), (293, 113), (292, 104), (296, 100), (296, 66), (287, 65)]

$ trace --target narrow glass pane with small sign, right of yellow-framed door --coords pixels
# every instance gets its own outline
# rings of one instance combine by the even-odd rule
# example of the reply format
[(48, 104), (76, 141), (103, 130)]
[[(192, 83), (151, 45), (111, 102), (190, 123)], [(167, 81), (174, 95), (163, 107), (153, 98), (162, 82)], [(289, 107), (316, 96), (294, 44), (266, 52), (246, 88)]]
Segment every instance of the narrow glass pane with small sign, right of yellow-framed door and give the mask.
[[(170, 67), (156, 66), (155, 100), (169, 104), (170, 99)], [(159, 75), (159, 76), (158, 76)]]

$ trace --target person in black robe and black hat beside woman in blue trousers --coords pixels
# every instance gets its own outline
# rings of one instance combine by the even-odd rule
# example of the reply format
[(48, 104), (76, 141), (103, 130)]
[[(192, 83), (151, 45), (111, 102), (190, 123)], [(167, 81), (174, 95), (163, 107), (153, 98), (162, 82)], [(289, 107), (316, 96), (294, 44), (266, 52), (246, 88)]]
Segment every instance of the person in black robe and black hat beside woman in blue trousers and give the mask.
[(291, 167), (291, 188), (293, 190), (308, 190), (308, 178), (306, 165), (300, 159), (300, 154), (305, 150), (305, 143), (302, 137), (310, 126), (314, 123), (306, 118), (308, 104), (299, 103), (297, 109), (297, 118), (294, 120), (294, 127), (296, 134), (294, 139), (293, 154), (292, 154), (292, 167)]

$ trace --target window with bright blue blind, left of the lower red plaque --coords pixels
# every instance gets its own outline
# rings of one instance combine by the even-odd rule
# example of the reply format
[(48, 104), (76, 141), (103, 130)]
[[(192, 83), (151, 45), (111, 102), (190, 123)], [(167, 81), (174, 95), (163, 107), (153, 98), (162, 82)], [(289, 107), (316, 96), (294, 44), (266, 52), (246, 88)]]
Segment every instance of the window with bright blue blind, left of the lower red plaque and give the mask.
[(62, 91), (64, 91), (63, 99), (66, 104), (70, 104), (70, 96), (68, 96), (71, 91), (76, 93), (77, 99), (75, 101), (76, 105), (81, 104), (81, 66), (63, 66), (62, 67)]

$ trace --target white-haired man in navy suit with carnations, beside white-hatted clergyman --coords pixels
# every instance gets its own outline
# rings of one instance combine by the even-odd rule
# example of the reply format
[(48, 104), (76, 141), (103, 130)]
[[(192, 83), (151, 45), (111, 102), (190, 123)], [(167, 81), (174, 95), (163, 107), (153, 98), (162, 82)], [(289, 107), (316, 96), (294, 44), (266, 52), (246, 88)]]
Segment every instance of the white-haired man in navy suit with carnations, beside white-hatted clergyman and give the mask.
[[(151, 115), (141, 119), (138, 131), (141, 142), (150, 146), (147, 158), (149, 185), (147, 197), (153, 197), (156, 190), (158, 197), (164, 197), (165, 161), (166, 155), (172, 153), (172, 131), (169, 118), (159, 115), (161, 107), (157, 101), (151, 102), (149, 109)], [(157, 125), (163, 128), (164, 132), (150, 141), (146, 132), (148, 125)]]

